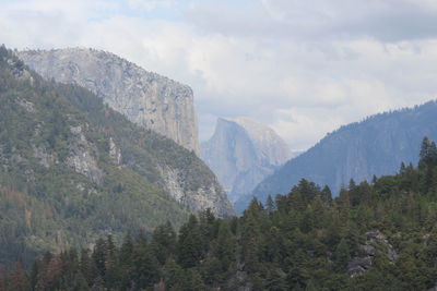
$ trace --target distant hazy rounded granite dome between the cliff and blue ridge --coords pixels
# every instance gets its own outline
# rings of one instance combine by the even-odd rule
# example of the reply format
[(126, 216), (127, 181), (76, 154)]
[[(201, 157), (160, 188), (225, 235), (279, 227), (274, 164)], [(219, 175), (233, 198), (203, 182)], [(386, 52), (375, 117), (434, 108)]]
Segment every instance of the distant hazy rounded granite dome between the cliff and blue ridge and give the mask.
[(288, 146), (272, 129), (248, 118), (220, 118), (201, 153), (231, 201), (250, 193), (291, 158)]

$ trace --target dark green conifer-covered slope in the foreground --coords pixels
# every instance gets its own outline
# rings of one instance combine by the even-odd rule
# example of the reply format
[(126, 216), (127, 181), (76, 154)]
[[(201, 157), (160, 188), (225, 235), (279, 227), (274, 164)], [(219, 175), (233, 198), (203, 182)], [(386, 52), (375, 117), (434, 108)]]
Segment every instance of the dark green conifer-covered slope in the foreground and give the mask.
[[(3, 271), (5, 290), (427, 290), (437, 282), (437, 148), (339, 197), (302, 180), (243, 217), (191, 216), (179, 234), (110, 237)], [(75, 289), (74, 289), (75, 288)], [(238, 289), (245, 288), (245, 289)], [(32, 289), (35, 290), (35, 289)]]

